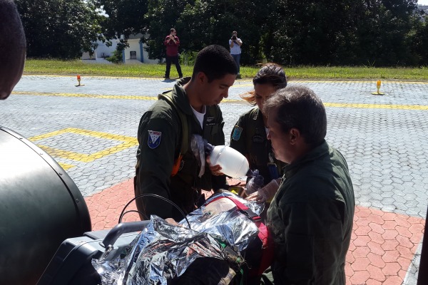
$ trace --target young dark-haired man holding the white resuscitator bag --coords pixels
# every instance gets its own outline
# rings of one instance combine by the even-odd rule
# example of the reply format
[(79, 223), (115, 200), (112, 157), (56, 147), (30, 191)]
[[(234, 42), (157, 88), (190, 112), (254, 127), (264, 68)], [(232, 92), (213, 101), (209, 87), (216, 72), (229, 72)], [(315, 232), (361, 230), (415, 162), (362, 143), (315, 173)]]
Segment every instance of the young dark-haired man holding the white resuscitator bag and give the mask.
[[(207, 46), (198, 53), (192, 77), (178, 81), (172, 92), (160, 95), (143, 115), (138, 127), (136, 197), (160, 195), (188, 214), (195, 209), (200, 190), (225, 187), (225, 175), (218, 165), (205, 163), (200, 177), (202, 163), (193, 154), (191, 141), (192, 135), (201, 135), (212, 145), (224, 145), (224, 122), (218, 104), (228, 97), (237, 73), (235, 61), (224, 47)], [(182, 127), (183, 115), (187, 130)], [(180, 153), (183, 133), (188, 134), (188, 148)], [(138, 198), (136, 204), (141, 219), (151, 214), (183, 219), (168, 202), (156, 197)]]

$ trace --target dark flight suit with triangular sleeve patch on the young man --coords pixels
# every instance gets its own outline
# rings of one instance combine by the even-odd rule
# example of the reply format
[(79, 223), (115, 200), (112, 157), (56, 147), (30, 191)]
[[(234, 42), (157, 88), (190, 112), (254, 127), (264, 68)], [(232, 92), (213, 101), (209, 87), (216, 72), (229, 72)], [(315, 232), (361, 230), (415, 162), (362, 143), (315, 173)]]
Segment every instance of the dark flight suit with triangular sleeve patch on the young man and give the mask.
[[(190, 147), (191, 135), (202, 135), (212, 145), (224, 145), (224, 122), (218, 105), (206, 106), (203, 128), (200, 127), (183, 89), (188, 81), (190, 78), (181, 79), (172, 90), (173, 101), (180, 112), (184, 113), (188, 123), (188, 151), (182, 154), (183, 160), (177, 174), (171, 177), (182, 142), (180, 116), (170, 103), (159, 99), (144, 113), (138, 127), (139, 146), (134, 180), (136, 196), (160, 195), (177, 204), (185, 214), (195, 209), (201, 189), (218, 190), (226, 185), (224, 175), (211, 175), (208, 163), (205, 163), (205, 174), (198, 177), (200, 167)], [(138, 211), (148, 218), (151, 214), (156, 214), (162, 218), (183, 219), (178, 211), (161, 199), (143, 197), (136, 199), (136, 204)]]

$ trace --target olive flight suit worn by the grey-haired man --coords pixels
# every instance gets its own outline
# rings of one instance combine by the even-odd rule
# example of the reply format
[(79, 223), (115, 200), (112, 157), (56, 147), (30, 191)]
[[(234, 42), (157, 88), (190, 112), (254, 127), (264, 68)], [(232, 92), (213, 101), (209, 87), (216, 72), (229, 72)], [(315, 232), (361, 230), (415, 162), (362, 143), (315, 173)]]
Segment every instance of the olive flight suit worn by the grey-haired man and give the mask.
[(327, 142), (285, 167), (267, 210), (275, 284), (345, 284), (355, 197), (345, 158)]

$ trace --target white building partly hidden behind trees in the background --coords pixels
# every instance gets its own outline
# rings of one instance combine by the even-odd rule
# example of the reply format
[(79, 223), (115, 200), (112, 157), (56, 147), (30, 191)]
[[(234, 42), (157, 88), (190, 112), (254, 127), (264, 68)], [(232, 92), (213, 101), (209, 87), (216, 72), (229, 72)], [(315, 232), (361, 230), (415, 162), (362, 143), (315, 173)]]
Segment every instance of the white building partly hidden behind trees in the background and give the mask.
[[(138, 33), (136, 35), (131, 35), (128, 38), (129, 47), (125, 48), (122, 53), (123, 63), (158, 63), (157, 59), (149, 59), (148, 53), (146, 51), (146, 44), (141, 43), (140, 38), (143, 35)], [(107, 46), (106, 43), (102, 41), (97, 41), (98, 47), (93, 51), (93, 56), (90, 56), (88, 52), (83, 53), (82, 60), (95, 60), (96, 63), (111, 63), (107, 61), (106, 58), (113, 54), (113, 51), (116, 51), (116, 46), (119, 40), (112, 40), (111, 46)]]

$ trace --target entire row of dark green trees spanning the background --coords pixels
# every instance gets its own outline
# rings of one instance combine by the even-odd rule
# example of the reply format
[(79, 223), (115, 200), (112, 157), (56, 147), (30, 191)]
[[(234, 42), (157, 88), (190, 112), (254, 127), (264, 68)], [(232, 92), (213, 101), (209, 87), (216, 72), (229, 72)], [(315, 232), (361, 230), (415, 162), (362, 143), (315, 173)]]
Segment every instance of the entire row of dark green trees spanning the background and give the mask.
[[(29, 56), (78, 57), (98, 36), (141, 33), (150, 58), (178, 31), (180, 52), (243, 40), (241, 62), (295, 65), (428, 64), (427, 20), (417, 0), (16, 0)], [(99, 16), (103, 9), (107, 16)], [(100, 28), (101, 25), (101, 28)]]

